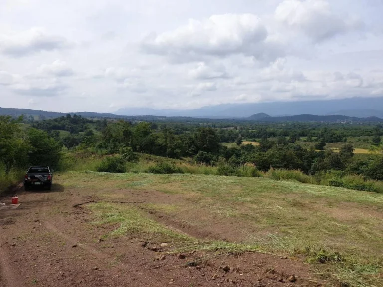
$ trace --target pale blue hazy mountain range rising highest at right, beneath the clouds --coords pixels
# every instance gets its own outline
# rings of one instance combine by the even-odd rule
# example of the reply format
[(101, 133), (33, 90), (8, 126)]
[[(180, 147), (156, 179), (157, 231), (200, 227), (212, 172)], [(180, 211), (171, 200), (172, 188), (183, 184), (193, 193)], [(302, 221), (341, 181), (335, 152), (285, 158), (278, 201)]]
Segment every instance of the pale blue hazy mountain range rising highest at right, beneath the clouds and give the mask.
[[(378, 116), (375, 112), (368, 113), (368, 110), (376, 110), (383, 107), (383, 97), (379, 98), (349, 98), (340, 100), (323, 101), (296, 101), (296, 102), (270, 102), (270, 103), (246, 103), (246, 104), (223, 104), (207, 106), (190, 110), (156, 110), (147, 108), (126, 108), (116, 112), (119, 115), (154, 115), (154, 116), (184, 116), (204, 118), (245, 118), (257, 113), (266, 113), (271, 116), (282, 115), (334, 115), (342, 114), (334, 111), (349, 111), (347, 116), (357, 116), (358, 111), (364, 110), (363, 117)], [(354, 114), (353, 112), (354, 111)]]

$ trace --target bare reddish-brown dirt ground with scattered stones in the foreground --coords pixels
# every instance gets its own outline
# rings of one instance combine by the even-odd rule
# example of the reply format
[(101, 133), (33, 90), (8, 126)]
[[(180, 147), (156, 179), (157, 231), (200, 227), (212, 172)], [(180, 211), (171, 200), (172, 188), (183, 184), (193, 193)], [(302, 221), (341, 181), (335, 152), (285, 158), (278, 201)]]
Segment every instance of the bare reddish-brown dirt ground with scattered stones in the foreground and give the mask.
[[(20, 207), (0, 210), (0, 287), (319, 285), (312, 280), (315, 276), (310, 266), (297, 259), (260, 253), (211, 258), (199, 252), (184, 254), (185, 258), (165, 255), (160, 259), (164, 250), (151, 249), (161, 242), (146, 245), (146, 238), (140, 235), (100, 240), (110, 227), (92, 224), (89, 209), (75, 206), (99, 200), (89, 191), (82, 193), (78, 188), (54, 184), (52, 191), (25, 192), (19, 186), (14, 192)], [(157, 191), (119, 192), (124, 193), (124, 200), (140, 204), (184, 200)], [(10, 204), (10, 195), (0, 197), (0, 202)], [(201, 239), (224, 235), (219, 228), (206, 232), (160, 213), (151, 211), (148, 215)], [(198, 264), (188, 265), (202, 256)]]

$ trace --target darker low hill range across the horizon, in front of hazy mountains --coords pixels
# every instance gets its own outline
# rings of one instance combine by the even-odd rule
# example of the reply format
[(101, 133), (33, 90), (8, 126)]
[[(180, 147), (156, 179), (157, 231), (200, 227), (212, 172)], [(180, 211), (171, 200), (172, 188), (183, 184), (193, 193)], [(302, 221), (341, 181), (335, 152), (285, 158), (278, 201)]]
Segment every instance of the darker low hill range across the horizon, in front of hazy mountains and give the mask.
[(80, 115), (85, 118), (93, 119), (102, 119), (102, 118), (112, 118), (112, 119), (126, 119), (126, 120), (140, 120), (140, 121), (165, 121), (165, 122), (221, 122), (221, 121), (251, 121), (251, 122), (383, 122), (382, 118), (378, 117), (350, 117), (345, 115), (311, 115), (311, 114), (301, 114), (294, 116), (280, 116), (272, 117), (266, 113), (257, 113), (246, 118), (230, 118), (222, 117), (221, 119), (211, 119), (211, 118), (193, 118), (193, 117), (166, 117), (166, 116), (153, 116), (153, 115), (137, 115), (137, 116), (122, 116), (111, 113), (94, 113), (94, 112), (73, 112), (73, 113), (58, 113), (58, 112), (48, 112), (41, 110), (29, 110), (29, 109), (14, 109), (14, 108), (0, 108), (0, 115), (10, 115), (13, 117), (18, 117), (21, 115), (33, 116), (38, 119), (49, 119), (49, 118), (58, 118), (65, 116), (66, 114), (71, 115)]

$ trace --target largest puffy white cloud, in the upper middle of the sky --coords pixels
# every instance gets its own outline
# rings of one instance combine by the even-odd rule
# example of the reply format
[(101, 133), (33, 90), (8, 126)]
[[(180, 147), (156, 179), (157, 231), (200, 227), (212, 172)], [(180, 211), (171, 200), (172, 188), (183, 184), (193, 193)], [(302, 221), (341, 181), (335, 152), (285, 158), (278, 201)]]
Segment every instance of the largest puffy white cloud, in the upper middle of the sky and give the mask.
[(173, 31), (151, 34), (142, 43), (145, 52), (168, 56), (177, 62), (235, 54), (260, 61), (275, 59), (281, 50), (268, 39), (262, 20), (253, 14), (212, 15), (207, 20), (190, 19)]

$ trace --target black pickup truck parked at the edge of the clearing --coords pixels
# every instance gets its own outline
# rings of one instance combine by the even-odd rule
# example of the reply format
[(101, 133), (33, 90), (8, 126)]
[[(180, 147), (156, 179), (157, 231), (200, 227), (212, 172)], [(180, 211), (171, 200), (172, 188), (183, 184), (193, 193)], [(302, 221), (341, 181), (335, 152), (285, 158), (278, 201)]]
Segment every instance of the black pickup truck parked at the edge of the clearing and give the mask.
[(53, 170), (49, 166), (31, 166), (24, 177), (24, 189), (31, 187), (42, 187), (51, 189)]

